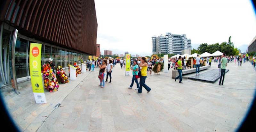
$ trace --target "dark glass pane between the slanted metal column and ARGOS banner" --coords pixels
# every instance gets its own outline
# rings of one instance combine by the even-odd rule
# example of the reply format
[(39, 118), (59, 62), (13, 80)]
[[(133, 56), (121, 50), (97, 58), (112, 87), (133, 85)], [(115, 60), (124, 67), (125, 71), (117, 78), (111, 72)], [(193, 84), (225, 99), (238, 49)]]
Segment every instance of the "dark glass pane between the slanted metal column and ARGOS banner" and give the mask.
[(15, 71), (16, 78), (26, 77), (27, 75), (27, 47), (28, 40), (17, 37), (15, 47)]

